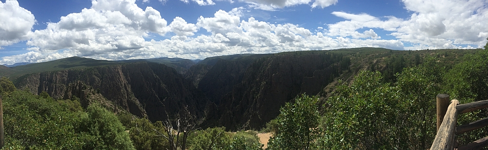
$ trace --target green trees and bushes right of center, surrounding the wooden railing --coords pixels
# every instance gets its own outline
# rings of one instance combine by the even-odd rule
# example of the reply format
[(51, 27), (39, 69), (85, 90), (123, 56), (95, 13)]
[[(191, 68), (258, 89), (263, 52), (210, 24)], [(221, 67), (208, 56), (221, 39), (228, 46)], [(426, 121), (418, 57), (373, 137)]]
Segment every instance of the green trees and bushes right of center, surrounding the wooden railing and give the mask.
[[(435, 96), (468, 103), (488, 99), (488, 44), (463, 62), (442, 66), (427, 57), (403, 68), (395, 82), (378, 71), (360, 71), (339, 83), (318, 114), (315, 97), (302, 96), (282, 108), (268, 126), (277, 128), (269, 150), (425, 150), (436, 134)], [(463, 114), (460, 124), (488, 117), (487, 109)], [(456, 136), (460, 145), (488, 135), (487, 127)]]

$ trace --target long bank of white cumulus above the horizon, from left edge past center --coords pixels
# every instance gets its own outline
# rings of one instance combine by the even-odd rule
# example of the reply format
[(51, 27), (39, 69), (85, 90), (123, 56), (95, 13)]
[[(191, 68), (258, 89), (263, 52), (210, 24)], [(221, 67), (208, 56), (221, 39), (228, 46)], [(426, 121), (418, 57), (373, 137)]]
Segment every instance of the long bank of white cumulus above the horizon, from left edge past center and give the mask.
[[(121, 2), (121, 1), (119, 1)], [(169, 25), (161, 28), (138, 24), (149, 21), (142, 9), (137, 12), (117, 11), (116, 5), (103, 4), (110, 9), (92, 7), (81, 13), (62, 17), (60, 22), (49, 23), (45, 30), (35, 31), (28, 53), (3, 57), (0, 64), (15, 62), (42, 62), (70, 56), (85, 56), (95, 59), (120, 60), (155, 57), (180, 57), (203, 59), (216, 55), (238, 53), (275, 53), (294, 50), (331, 50), (354, 47), (399, 48), (403, 43), (398, 40), (377, 40), (373, 30), (367, 30), (364, 36), (368, 40), (344, 37), (329, 37), (325, 33), (311, 33), (308, 29), (295, 24), (272, 24), (249, 17), (242, 18), (242, 9), (217, 11), (213, 17), (199, 17), (196, 24), (187, 23), (176, 17)], [(124, 4), (121, 2), (121, 4)], [(126, 8), (132, 3), (117, 5)], [(133, 6), (133, 5), (132, 5)], [(95, 9), (97, 8), (97, 9)], [(150, 9), (147, 9), (149, 10)], [(139, 15), (138, 15), (139, 14)], [(144, 16), (144, 17), (143, 17)], [(138, 20), (139, 19), (139, 20)], [(153, 20), (162, 19), (156, 18)], [(208, 35), (194, 35), (199, 29), (205, 29)], [(163, 31), (163, 32), (161, 32)], [(168, 39), (145, 41), (150, 33), (175, 33)]]

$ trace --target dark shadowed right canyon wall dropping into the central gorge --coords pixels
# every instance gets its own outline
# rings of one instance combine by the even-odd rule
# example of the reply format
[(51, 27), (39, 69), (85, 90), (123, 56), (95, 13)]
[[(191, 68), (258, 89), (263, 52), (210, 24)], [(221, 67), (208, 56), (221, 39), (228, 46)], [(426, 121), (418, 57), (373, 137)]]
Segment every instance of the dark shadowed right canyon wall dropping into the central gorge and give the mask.
[[(251, 63), (219, 61), (198, 88), (218, 106), (205, 126), (260, 129), (298, 94), (319, 93), (341, 73), (342, 55), (326, 52), (279, 53)], [(349, 64), (343, 65), (346, 69)]]

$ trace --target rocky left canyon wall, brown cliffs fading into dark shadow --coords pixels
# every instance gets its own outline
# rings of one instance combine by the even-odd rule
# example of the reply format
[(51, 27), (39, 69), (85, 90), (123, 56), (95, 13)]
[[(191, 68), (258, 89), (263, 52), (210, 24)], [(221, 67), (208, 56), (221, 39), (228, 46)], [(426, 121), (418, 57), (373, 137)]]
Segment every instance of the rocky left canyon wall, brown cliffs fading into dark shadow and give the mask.
[(152, 121), (164, 120), (166, 112), (174, 114), (186, 105), (203, 118), (208, 101), (175, 69), (147, 62), (33, 73), (18, 78), (16, 86), (35, 94), (46, 91), (56, 99), (82, 97), (84, 106), (84, 89), (93, 88), (116, 107)]

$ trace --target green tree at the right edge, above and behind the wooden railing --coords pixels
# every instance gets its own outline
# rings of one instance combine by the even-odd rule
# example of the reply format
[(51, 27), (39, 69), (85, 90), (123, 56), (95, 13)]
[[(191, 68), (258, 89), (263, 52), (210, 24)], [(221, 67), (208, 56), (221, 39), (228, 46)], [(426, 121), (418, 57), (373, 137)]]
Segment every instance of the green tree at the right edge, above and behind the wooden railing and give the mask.
[[(488, 42), (484, 48), (465, 55), (464, 62), (456, 64), (444, 76), (443, 87), (451, 99), (457, 99), (461, 104), (488, 99)], [(488, 117), (488, 111), (478, 110), (458, 116), (458, 123), (466, 124), (485, 117)], [(463, 145), (487, 134), (488, 127), (484, 127), (456, 138)]]

